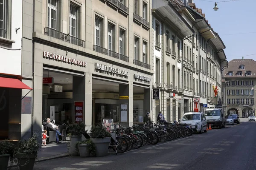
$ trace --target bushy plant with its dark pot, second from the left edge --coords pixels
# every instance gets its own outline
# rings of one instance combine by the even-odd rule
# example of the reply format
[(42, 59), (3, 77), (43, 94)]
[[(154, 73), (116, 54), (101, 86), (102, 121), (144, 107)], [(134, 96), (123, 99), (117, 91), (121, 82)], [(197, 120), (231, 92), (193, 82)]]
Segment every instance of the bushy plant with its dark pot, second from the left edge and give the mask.
[(15, 153), (20, 170), (33, 170), (40, 147), (38, 138), (38, 135), (33, 134), (31, 138), (19, 141)]

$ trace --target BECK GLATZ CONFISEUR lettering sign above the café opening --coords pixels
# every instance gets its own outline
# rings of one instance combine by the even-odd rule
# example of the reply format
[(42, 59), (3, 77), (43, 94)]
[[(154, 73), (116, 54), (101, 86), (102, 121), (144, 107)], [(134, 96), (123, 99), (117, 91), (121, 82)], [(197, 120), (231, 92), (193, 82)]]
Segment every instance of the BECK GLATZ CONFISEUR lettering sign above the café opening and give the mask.
[(87, 66), (87, 62), (85, 62), (85, 61), (81, 61), (79, 59), (74, 59), (74, 58), (70, 58), (70, 57), (66, 57), (66, 56), (61, 56), (61, 55), (50, 53), (50, 52), (47, 52), (47, 51), (43, 52), (43, 57), (48, 58), (48, 59), (52, 59), (52, 60), (55, 59), (56, 61), (66, 62), (66, 63), (69, 63), (69, 64), (79, 65), (81, 67), (86, 67)]

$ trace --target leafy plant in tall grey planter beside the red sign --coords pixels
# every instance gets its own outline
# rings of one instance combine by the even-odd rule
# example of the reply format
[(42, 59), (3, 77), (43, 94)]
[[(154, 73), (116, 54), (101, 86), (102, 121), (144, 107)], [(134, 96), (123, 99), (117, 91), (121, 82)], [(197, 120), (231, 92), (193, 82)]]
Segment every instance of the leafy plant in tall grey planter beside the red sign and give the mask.
[(78, 122), (68, 125), (68, 135), (70, 137), (70, 143), (68, 144), (68, 152), (71, 156), (77, 156), (76, 142), (82, 141), (82, 134), (86, 133), (85, 125), (83, 122)]

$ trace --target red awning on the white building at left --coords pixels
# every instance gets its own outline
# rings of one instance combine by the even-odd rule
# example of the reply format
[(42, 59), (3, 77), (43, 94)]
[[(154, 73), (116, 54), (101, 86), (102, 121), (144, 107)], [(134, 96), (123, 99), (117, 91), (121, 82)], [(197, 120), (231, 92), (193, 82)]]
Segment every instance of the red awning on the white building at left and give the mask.
[(20, 88), (20, 89), (32, 90), (32, 88), (25, 85), (19, 79), (11, 79), (11, 78), (5, 78), (5, 77), (0, 77), (0, 87), (1, 88)]

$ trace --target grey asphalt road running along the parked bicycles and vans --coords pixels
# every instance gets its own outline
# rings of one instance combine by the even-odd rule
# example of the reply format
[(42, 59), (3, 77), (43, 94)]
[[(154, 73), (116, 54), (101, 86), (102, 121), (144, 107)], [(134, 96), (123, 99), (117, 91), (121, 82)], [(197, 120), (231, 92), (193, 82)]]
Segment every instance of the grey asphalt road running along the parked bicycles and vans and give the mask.
[(34, 170), (256, 170), (256, 123), (241, 122), (107, 157), (66, 157)]

